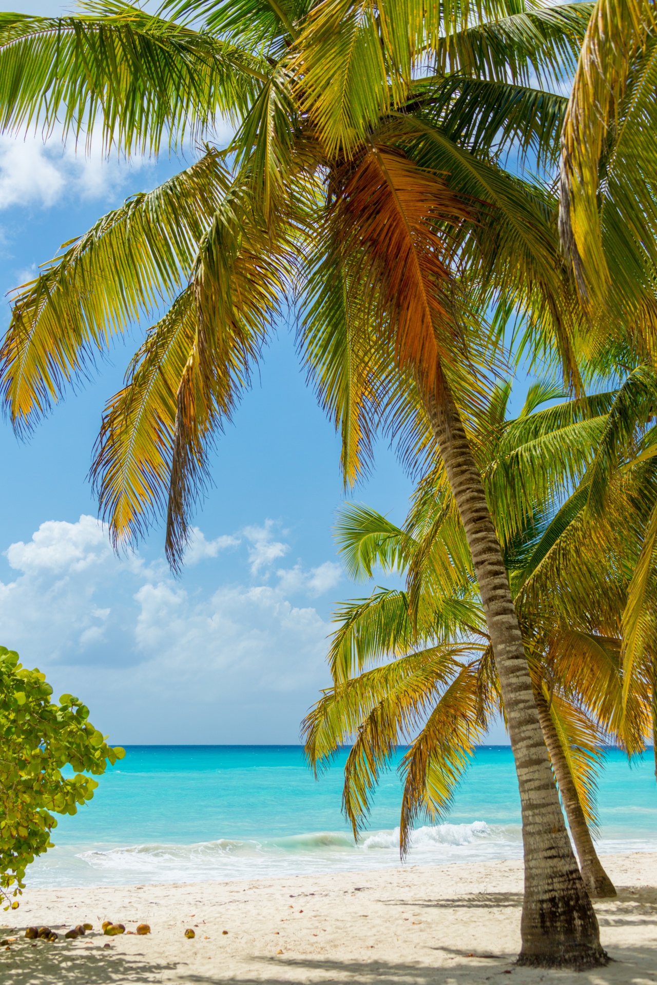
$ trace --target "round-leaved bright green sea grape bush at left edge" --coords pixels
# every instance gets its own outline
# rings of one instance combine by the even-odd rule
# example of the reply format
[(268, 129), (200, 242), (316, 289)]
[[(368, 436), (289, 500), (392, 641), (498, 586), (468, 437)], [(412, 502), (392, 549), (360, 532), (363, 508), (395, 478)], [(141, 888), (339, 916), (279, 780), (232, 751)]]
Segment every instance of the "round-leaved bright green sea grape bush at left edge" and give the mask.
[[(45, 675), (0, 646), (0, 895), (16, 908), (27, 867), (53, 847), (55, 814), (76, 814), (94, 796), (107, 762), (125, 751), (108, 746), (78, 697), (51, 701)], [(64, 776), (69, 766), (73, 776)], [(12, 902), (12, 897), (14, 901)]]

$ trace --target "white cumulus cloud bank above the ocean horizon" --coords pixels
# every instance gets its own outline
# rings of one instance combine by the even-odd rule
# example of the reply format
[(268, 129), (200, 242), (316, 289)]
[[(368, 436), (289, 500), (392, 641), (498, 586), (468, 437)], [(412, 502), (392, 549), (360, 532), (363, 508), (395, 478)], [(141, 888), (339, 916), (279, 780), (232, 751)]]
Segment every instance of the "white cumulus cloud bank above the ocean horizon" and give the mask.
[(303, 596), (334, 586), (340, 568), (299, 562), (266, 583), (289, 547), (275, 529), (214, 540), (196, 530), (196, 561), (230, 550), (231, 570), (247, 560), (254, 572), (227, 583), (207, 566), (199, 585), (174, 581), (161, 559), (117, 558), (91, 516), (43, 523), (5, 552), (14, 576), (0, 582), (0, 642), (57, 693), (79, 693), (115, 741), (295, 742), (327, 684), (330, 631)]

